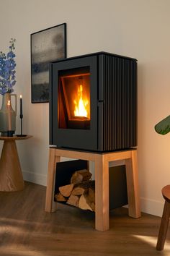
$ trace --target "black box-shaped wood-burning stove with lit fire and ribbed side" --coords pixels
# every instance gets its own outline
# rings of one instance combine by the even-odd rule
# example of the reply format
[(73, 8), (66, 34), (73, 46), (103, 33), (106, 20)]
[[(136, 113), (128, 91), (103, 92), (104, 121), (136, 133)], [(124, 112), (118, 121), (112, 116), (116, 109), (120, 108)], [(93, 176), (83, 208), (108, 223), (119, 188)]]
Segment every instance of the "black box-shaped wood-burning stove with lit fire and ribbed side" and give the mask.
[(99, 52), (50, 64), (50, 145), (122, 150), (137, 145), (137, 60)]

